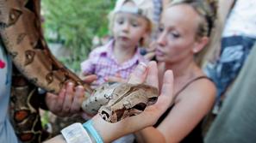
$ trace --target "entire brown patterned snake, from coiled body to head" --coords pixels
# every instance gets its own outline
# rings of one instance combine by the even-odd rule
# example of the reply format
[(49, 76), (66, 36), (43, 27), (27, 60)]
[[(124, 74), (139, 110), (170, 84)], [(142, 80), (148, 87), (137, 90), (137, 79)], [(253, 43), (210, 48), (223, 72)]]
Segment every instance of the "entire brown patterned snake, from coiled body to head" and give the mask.
[[(41, 127), (39, 108), (43, 95), (38, 87), (58, 93), (66, 82), (91, 87), (53, 57), (41, 29), (40, 0), (0, 0), (0, 34), (12, 57), (13, 71), (10, 116), (22, 142), (41, 142), (49, 134)], [(82, 109), (97, 113), (108, 122), (139, 114), (156, 102), (158, 90), (147, 85), (115, 84), (97, 88), (85, 98)], [(102, 107), (101, 107), (102, 106)]]

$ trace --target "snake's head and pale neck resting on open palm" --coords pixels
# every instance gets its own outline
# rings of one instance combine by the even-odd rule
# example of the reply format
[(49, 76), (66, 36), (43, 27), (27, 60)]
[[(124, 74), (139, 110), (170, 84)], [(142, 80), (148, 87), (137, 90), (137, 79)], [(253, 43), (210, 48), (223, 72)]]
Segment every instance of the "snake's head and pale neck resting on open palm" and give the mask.
[(158, 89), (144, 84), (103, 84), (91, 95), (91, 98), (84, 100), (83, 110), (90, 114), (98, 112), (107, 122), (118, 122), (128, 116), (138, 115), (147, 105), (154, 104), (158, 98)]

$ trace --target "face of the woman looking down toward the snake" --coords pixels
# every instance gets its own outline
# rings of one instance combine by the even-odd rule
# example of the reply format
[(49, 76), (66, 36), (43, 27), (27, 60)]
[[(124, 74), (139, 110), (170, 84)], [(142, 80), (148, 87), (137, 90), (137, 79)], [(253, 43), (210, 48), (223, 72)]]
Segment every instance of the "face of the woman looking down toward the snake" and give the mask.
[(189, 5), (174, 5), (165, 10), (159, 24), (156, 57), (159, 62), (177, 63), (193, 58), (197, 46), (199, 15)]

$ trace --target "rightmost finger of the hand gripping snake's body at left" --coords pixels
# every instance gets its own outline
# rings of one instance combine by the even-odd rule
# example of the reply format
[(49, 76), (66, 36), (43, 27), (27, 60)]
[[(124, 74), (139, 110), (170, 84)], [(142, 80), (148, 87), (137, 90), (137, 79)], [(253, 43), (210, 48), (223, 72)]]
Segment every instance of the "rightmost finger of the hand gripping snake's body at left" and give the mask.
[(72, 108), (71, 108), (72, 113), (78, 113), (78, 111), (80, 111), (83, 99), (84, 99), (84, 87), (77, 86), (76, 92), (74, 94), (74, 99), (72, 102)]

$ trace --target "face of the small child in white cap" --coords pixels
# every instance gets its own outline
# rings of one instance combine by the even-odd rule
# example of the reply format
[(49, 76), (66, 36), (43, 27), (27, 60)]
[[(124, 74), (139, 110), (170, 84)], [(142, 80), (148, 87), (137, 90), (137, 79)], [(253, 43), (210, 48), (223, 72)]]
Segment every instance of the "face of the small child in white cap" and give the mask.
[(139, 15), (130, 13), (117, 13), (113, 34), (117, 45), (138, 45), (140, 39), (147, 34), (147, 20)]

